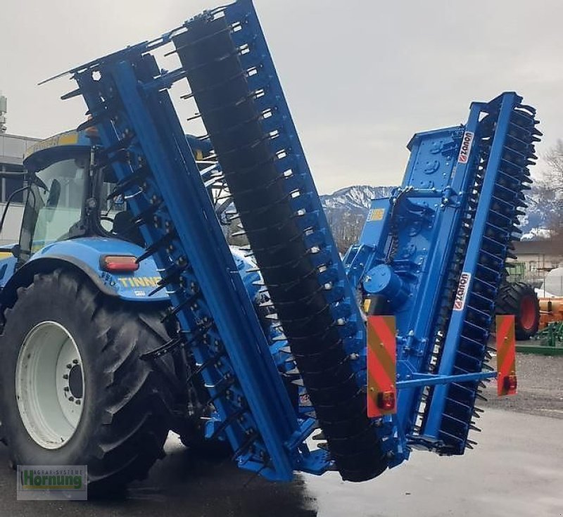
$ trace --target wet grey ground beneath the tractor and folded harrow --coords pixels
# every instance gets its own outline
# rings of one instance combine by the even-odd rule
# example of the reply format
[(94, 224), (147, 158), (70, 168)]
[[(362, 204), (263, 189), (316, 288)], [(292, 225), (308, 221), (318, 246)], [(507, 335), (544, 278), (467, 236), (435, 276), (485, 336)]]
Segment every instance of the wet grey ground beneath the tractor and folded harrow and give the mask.
[(171, 435), (167, 457), (122, 497), (18, 502), (0, 447), (0, 516), (563, 516), (563, 357), (519, 355), (518, 362), (519, 395), (483, 404), (483, 432), (472, 435), (479, 445), (463, 457), (415, 451), (361, 484), (336, 473), (268, 483), (228, 462), (197, 458)]

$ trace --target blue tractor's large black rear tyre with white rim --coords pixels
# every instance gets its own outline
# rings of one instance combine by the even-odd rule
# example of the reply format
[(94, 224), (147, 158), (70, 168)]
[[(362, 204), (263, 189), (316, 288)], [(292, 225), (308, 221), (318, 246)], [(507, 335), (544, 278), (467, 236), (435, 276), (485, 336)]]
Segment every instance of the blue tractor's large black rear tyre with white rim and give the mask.
[(89, 490), (103, 494), (146, 477), (164, 456), (172, 394), (139, 356), (167, 334), (159, 312), (140, 307), (62, 269), (18, 289), (0, 338), (13, 465), (87, 464)]

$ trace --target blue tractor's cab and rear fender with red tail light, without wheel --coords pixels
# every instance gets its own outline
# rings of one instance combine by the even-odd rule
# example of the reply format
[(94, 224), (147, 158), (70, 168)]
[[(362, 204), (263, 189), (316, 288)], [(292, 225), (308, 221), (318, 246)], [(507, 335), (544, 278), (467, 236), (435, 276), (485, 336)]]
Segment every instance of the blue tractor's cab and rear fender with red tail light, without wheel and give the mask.
[[(231, 201), (225, 200), (210, 142), (191, 135), (186, 139), (217, 215), (226, 222)], [(141, 190), (121, 193), (113, 167), (101, 163), (108, 163), (107, 156), (93, 128), (51, 136), (27, 150), (20, 240), (0, 248), (4, 255), (0, 257), (0, 304), (15, 299), (18, 283), (29, 283), (35, 274), (61, 265), (86, 274), (109, 296), (148, 303), (168, 300), (163, 289), (153, 293), (160, 280), (154, 260), (137, 262), (145, 242), (129, 203)], [(6, 210), (9, 203), (4, 215)], [(109, 271), (107, 260), (112, 264), (125, 261), (125, 269), (116, 266)], [(235, 260), (240, 267), (247, 261), (238, 255)], [(253, 280), (250, 276), (247, 280), (254, 293)]]

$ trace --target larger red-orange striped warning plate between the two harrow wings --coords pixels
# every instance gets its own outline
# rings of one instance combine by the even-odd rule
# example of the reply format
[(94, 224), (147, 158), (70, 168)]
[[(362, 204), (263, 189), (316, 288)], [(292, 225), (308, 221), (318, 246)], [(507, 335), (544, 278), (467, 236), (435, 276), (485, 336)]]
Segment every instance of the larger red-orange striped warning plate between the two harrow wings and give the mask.
[(367, 416), (397, 411), (396, 329), (393, 316), (367, 317)]

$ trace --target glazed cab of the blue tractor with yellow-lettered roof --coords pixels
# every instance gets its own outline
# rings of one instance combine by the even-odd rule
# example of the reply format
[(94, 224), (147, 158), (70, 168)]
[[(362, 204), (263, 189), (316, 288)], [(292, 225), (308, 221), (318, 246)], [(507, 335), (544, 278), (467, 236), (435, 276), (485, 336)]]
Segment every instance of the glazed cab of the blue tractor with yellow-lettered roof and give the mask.
[[(208, 143), (187, 138), (201, 168), (208, 167)], [(125, 197), (112, 196), (112, 167), (91, 167), (100, 151), (91, 129), (58, 134), (29, 149), (24, 165), (30, 191), (14, 250), (18, 266), (46, 245), (78, 237), (118, 238), (144, 247)]]

